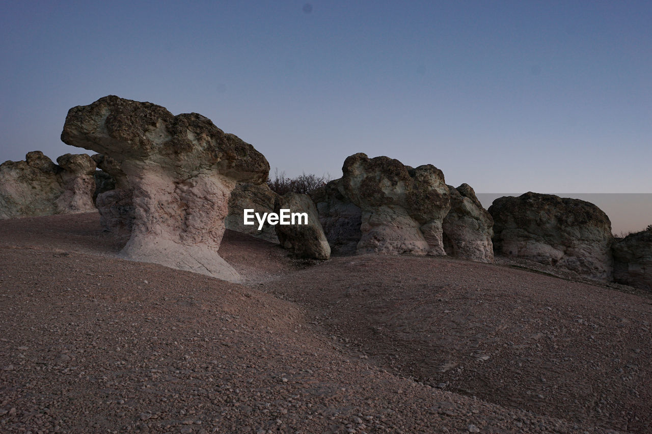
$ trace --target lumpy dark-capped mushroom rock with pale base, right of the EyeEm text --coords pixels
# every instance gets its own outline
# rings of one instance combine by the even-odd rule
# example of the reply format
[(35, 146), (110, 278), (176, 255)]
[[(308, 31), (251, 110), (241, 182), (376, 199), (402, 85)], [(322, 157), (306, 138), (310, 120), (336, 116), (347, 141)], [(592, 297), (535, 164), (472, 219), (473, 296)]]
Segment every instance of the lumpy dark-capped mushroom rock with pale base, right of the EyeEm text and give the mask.
[(359, 153), (342, 173), (340, 192), (362, 211), (358, 253), (446, 254), (441, 224), (451, 204), (441, 170)]

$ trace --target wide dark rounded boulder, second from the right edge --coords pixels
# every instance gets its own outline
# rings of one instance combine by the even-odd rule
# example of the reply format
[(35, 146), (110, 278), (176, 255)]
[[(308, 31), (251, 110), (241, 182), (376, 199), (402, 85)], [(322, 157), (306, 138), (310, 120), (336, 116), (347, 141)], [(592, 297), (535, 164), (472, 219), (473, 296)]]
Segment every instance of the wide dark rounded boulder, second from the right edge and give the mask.
[(528, 192), (499, 197), (489, 213), (497, 254), (567, 268), (587, 278), (611, 278), (611, 222), (593, 203)]

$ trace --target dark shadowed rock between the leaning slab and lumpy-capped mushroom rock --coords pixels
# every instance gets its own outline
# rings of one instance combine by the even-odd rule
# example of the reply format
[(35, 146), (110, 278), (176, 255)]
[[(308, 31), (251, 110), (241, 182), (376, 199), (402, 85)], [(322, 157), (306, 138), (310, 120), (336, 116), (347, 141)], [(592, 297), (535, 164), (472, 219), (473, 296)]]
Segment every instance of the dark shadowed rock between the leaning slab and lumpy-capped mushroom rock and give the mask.
[(339, 255), (355, 254), (362, 237), (362, 210), (338, 190), (340, 180), (331, 181), (310, 193), (317, 205), (319, 222), (331, 246)]

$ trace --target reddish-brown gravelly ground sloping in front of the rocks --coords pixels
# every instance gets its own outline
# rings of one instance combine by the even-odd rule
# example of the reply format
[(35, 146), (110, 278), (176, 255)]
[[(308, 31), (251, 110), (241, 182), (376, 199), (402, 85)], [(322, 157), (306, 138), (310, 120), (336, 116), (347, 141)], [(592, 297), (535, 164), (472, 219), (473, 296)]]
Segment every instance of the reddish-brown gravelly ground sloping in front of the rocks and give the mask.
[(235, 284), (124, 242), (96, 213), (0, 222), (0, 432), (652, 432), (644, 295), (228, 231)]

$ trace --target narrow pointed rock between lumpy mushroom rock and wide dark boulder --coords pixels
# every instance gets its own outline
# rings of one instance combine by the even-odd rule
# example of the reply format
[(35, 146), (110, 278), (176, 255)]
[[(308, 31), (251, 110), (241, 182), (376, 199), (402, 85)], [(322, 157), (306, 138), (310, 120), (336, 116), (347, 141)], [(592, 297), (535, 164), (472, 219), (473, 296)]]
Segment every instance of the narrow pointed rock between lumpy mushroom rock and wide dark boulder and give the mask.
[(494, 219), (482, 208), (469, 184), (449, 185), (451, 210), (443, 220), (444, 249), (448, 255), (494, 262)]

